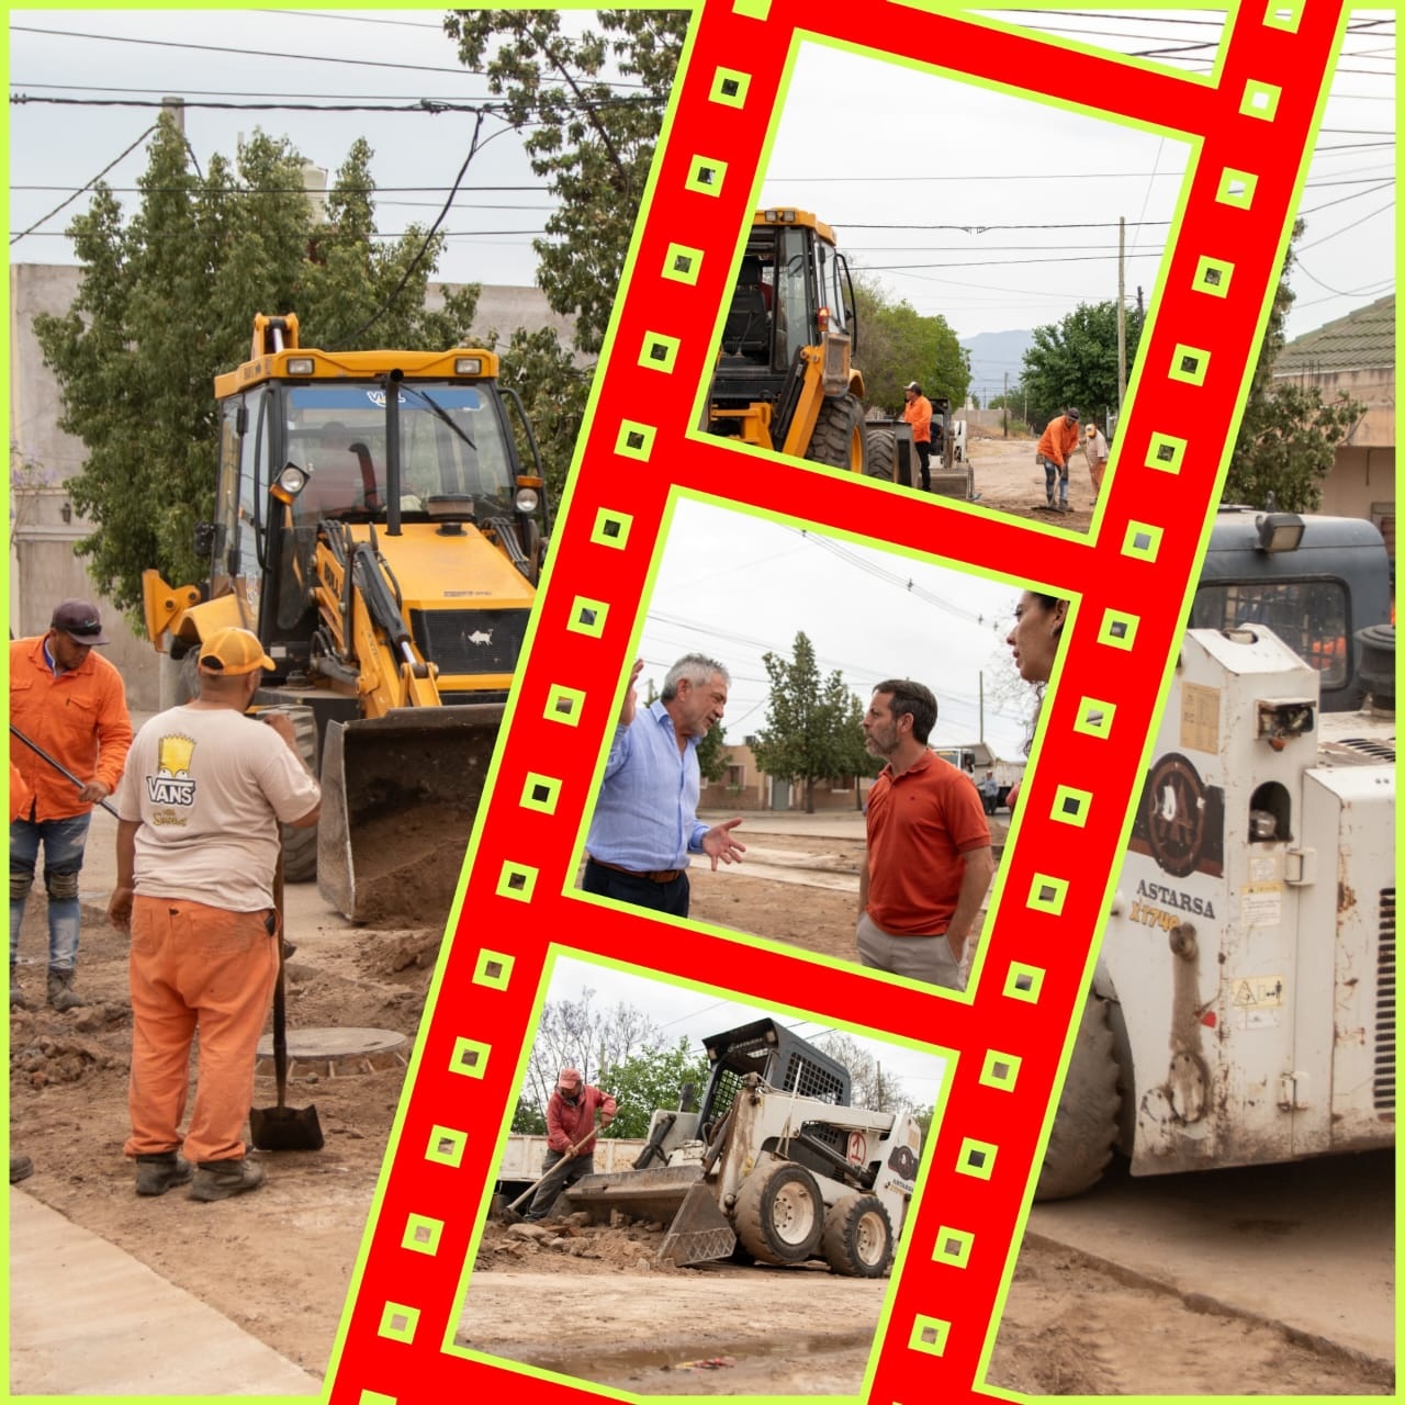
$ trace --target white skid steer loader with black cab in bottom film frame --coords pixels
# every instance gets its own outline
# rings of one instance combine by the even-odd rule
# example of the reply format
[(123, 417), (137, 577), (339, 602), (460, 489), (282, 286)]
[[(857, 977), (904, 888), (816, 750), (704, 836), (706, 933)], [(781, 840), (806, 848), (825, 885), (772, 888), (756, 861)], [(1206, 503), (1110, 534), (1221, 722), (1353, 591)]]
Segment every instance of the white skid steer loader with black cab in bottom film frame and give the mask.
[(635, 1169), (583, 1176), (563, 1200), (667, 1227), (659, 1257), (733, 1255), (877, 1279), (892, 1263), (922, 1155), (906, 1113), (851, 1107), (849, 1071), (774, 1020), (702, 1041), (697, 1111), (653, 1114)]

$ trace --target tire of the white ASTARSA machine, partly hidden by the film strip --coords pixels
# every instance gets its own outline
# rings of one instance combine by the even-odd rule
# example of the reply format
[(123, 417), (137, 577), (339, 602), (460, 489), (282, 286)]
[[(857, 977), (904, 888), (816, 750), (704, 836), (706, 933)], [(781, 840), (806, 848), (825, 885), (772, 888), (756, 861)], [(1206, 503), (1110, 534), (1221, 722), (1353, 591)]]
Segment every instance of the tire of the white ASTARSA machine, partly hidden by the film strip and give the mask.
[(1068, 1079), (1044, 1148), (1035, 1200), (1066, 1200), (1103, 1177), (1117, 1141), (1117, 1052), (1107, 1002), (1089, 993), (1079, 1016)]

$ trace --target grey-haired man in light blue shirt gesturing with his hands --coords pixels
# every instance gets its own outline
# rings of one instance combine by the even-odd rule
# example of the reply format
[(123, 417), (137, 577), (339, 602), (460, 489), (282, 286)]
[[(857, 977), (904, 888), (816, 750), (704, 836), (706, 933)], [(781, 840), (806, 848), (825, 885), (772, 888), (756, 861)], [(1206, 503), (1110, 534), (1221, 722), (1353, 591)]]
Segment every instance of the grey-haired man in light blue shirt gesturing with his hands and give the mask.
[(658, 701), (641, 711), (635, 684), (642, 669), (639, 659), (620, 708), (582, 887), (686, 917), (690, 854), (707, 854), (715, 870), (718, 860), (740, 863), (746, 851), (732, 837), (739, 818), (708, 828), (697, 816), (697, 746), (722, 721), (731, 680), (717, 659), (684, 655), (665, 676)]

